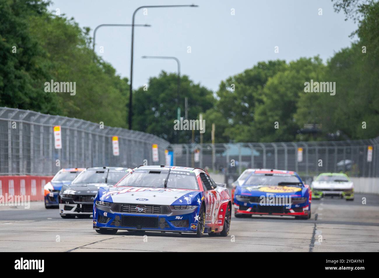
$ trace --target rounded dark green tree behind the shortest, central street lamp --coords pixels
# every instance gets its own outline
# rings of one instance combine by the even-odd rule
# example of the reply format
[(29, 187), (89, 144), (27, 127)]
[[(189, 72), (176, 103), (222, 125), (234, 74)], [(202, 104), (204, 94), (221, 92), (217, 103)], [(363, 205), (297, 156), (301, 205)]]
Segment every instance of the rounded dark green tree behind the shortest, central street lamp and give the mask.
[[(174, 120), (177, 119), (177, 75), (162, 71), (149, 79), (147, 90), (140, 87), (133, 95), (133, 129), (157, 135), (169, 142), (190, 143), (191, 130), (178, 130), (175, 136)], [(184, 117), (184, 98), (188, 98), (188, 118), (199, 119), (199, 113), (213, 107), (212, 92), (200, 84), (194, 84), (188, 76), (180, 76), (180, 109)], [(206, 122), (205, 130), (211, 130)], [(199, 131), (195, 131), (198, 141)]]

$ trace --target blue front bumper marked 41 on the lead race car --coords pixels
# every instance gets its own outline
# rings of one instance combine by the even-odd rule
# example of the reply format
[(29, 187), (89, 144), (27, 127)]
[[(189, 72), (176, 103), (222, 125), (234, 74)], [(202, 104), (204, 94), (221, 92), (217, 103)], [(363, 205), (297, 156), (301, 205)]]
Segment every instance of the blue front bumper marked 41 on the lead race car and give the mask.
[(93, 228), (128, 231), (164, 231), (174, 233), (196, 233), (199, 207), (175, 210), (172, 206), (167, 214), (120, 213), (111, 207), (96, 204), (93, 210)]

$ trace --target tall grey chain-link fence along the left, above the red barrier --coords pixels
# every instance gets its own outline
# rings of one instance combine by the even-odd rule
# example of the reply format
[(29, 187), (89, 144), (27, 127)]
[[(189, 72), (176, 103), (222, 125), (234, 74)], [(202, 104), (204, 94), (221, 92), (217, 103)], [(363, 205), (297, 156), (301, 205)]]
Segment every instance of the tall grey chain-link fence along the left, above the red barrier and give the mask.
[[(61, 126), (61, 149), (55, 149), (53, 127)], [(103, 126), (89, 121), (0, 107), (0, 175), (52, 175), (61, 168), (122, 166), (145, 162), (164, 164), (168, 146), (144, 132)], [(113, 155), (112, 137), (119, 140)], [(158, 145), (158, 162), (152, 160)]]

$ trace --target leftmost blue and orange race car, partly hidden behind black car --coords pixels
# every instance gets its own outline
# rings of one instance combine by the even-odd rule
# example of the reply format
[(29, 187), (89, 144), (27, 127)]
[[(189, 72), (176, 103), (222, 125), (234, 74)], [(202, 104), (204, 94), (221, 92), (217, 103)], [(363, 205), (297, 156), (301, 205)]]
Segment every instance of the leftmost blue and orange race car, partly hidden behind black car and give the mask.
[(85, 168), (61, 169), (53, 179), (44, 186), (45, 208), (58, 208), (59, 192), (62, 185), (69, 185)]

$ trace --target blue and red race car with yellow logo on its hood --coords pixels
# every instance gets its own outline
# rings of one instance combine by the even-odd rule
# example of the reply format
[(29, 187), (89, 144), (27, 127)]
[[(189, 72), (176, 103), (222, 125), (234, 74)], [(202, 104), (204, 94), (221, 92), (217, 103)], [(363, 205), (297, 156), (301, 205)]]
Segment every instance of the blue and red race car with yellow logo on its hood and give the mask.
[(292, 171), (256, 169), (234, 194), (235, 217), (290, 215), (311, 216), (312, 191)]

